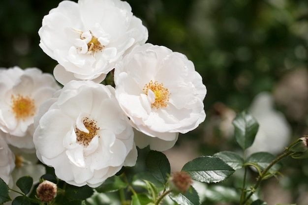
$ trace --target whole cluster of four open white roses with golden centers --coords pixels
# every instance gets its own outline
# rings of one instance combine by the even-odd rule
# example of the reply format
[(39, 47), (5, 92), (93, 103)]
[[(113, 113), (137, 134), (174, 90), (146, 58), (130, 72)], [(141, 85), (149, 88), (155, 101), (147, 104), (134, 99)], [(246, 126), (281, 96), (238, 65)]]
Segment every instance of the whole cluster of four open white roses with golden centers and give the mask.
[[(36, 70), (2, 71), (0, 129), (14, 146), (35, 146), (67, 183), (97, 187), (135, 165), (136, 146), (169, 149), (204, 121), (207, 90), (193, 63), (146, 43), (148, 30), (127, 2), (64, 0), (38, 33), (63, 88)], [(108, 73), (115, 88), (102, 84)]]

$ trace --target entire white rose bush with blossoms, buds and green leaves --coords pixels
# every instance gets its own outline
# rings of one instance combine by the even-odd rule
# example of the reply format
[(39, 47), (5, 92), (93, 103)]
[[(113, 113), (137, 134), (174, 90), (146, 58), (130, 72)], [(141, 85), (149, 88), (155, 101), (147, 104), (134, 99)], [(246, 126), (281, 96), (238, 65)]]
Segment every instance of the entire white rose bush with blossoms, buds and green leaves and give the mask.
[[(172, 173), (161, 151), (206, 118), (207, 88), (193, 62), (146, 43), (147, 28), (122, 0), (63, 0), (38, 34), (59, 63), (53, 76), (0, 69), (0, 204), (200, 205), (211, 191), (203, 185), (243, 171), (241, 186), (212, 193), (264, 205), (257, 191), (279, 174), (279, 161), (308, 156), (308, 137), (288, 146), (283, 117), (257, 98), (232, 120), (239, 151), (200, 156)], [(258, 149), (265, 141), (275, 150)], [(251, 167), (257, 177), (248, 182)]]

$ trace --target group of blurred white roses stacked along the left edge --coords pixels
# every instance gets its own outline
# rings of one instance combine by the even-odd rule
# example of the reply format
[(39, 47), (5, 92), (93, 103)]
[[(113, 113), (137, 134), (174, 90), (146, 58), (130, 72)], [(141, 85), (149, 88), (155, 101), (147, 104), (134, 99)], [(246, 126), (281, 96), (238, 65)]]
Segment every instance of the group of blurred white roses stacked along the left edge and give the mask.
[(0, 69), (0, 178), (15, 190), (21, 176), (35, 176), (38, 182), (37, 176), (45, 174), (45, 167), (36, 164), (33, 119), (40, 104), (60, 88), (38, 68)]

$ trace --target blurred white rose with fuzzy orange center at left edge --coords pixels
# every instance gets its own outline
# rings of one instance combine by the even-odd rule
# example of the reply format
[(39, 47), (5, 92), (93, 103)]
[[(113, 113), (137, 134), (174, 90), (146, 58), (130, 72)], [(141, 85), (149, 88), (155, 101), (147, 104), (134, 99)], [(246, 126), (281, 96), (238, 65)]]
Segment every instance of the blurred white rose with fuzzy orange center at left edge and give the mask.
[(33, 149), (33, 118), (42, 102), (60, 89), (51, 74), (38, 68), (0, 69), (0, 130), (8, 144)]

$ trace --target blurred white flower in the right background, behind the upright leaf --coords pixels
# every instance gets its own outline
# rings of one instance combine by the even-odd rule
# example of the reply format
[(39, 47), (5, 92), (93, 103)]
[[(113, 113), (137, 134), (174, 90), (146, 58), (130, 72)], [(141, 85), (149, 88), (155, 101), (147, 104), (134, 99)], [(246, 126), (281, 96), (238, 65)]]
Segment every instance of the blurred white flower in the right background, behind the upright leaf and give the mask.
[(274, 98), (268, 92), (259, 93), (253, 100), (250, 114), (259, 123), (255, 140), (247, 149), (247, 154), (270, 152), (279, 154), (289, 144), (291, 128), (284, 115), (274, 109)]

